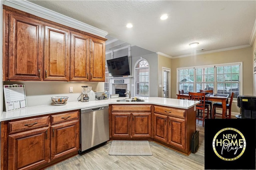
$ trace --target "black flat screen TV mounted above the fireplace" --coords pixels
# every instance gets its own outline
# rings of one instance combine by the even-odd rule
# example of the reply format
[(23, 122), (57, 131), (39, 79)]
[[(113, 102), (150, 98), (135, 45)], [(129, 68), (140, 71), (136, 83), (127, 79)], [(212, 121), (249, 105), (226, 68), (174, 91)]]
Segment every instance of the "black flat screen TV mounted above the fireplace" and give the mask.
[(109, 76), (121, 77), (130, 75), (128, 56), (107, 60)]

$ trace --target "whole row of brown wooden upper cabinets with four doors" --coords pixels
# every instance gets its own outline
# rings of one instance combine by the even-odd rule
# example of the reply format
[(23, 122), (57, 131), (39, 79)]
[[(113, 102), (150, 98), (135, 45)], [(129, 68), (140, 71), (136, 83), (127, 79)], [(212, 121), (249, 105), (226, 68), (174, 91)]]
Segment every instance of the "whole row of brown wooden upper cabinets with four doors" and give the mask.
[(105, 38), (3, 8), (4, 81), (105, 81)]

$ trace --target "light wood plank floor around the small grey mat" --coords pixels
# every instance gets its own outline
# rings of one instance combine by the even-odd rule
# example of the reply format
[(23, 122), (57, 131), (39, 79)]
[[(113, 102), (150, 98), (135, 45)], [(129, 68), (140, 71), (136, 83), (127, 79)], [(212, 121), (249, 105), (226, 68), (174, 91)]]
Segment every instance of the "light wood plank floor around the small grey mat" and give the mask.
[(48, 167), (46, 170), (203, 170), (204, 169), (204, 127), (197, 120), (199, 149), (189, 156), (172, 149), (149, 142), (152, 156), (113, 156), (109, 155), (111, 141), (84, 155), (74, 156)]

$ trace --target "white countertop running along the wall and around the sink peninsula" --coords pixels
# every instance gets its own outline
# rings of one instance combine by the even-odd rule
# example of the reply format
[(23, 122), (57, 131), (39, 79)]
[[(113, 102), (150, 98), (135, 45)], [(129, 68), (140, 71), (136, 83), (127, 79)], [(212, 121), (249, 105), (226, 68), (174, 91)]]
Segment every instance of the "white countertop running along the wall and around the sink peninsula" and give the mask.
[(182, 100), (182, 99), (169, 99), (162, 97), (138, 97), (143, 99), (143, 102), (117, 102), (118, 99), (125, 99), (125, 97), (99, 100), (99, 101), (88, 101), (88, 102), (68, 102), (66, 105), (39, 105), (33, 107), (27, 107), (16, 111), (3, 112), (1, 115), (1, 121), (8, 121), (13, 119), (20, 119), (26, 117), (33, 117), (39, 115), (46, 115), (50, 113), (58, 113), (64, 111), (71, 111), (76, 109), (85, 109), (89, 107), (96, 107), (101, 105), (109, 104), (154, 104), (168, 107), (176, 107), (181, 109), (189, 109), (193, 107), (198, 101)]

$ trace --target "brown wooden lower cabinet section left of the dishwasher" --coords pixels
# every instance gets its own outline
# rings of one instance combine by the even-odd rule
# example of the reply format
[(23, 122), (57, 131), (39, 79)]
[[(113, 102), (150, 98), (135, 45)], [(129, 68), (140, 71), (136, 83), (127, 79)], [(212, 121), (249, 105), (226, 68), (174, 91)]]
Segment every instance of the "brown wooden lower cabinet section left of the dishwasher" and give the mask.
[(1, 122), (1, 170), (36, 170), (78, 154), (79, 111)]

